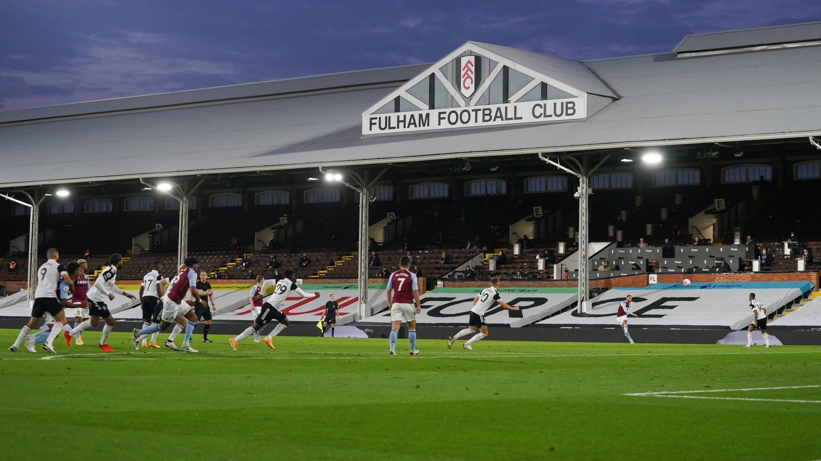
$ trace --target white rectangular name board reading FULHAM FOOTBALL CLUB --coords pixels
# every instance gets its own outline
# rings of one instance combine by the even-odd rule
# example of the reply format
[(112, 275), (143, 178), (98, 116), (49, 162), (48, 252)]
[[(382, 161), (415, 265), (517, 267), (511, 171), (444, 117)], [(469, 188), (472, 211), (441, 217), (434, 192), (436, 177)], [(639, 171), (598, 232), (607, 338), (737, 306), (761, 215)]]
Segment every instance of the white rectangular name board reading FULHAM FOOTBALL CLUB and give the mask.
[(452, 107), (362, 116), (362, 135), (580, 120), (587, 98), (549, 99), (490, 106)]

